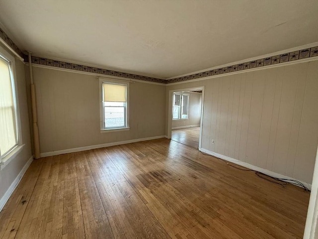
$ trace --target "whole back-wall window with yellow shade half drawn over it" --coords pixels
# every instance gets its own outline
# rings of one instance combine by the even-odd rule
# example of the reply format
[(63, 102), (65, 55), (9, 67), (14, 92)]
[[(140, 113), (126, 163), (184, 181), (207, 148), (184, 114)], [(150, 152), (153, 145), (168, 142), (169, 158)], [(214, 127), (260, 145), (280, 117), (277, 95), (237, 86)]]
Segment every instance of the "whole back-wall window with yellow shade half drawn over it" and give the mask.
[(127, 129), (129, 83), (101, 82), (101, 129)]

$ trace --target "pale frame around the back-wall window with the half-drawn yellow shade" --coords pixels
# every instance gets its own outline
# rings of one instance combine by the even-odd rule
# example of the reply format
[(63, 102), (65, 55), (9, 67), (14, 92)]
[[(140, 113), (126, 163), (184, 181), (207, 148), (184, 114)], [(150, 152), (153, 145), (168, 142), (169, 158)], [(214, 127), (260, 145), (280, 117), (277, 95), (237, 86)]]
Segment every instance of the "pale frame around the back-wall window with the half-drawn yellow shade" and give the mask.
[[(103, 90), (103, 84), (113, 84), (113, 85), (125, 85), (126, 86), (126, 107), (125, 107), (125, 118), (126, 123), (125, 126), (122, 127), (107, 127), (105, 128), (105, 112), (104, 112), (104, 90)], [(99, 78), (99, 115), (100, 115), (100, 132), (115, 132), (115, 131), (126, 131), (130, 130), (129, 126), (129, 82), (128, 81), (121, 81), (121, 80), (113, 80), (109, 78)]]

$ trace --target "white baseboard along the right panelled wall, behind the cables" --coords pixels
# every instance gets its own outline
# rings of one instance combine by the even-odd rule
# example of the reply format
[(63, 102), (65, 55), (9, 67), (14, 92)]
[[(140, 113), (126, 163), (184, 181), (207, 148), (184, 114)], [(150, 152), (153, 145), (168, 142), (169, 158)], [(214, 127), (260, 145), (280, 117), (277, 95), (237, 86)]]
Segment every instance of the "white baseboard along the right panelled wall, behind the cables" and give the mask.
[[(210, 154), (212, 156), (215, 156), (215, 157), (218, 157), (218, 158), (222, 158), (226, 161), (229, 161), (229, 162), (232, 162), (232, 163), (235, 163), (235, 164), (238, 164), (240, 166), (243, 166), (245, 168), (249, 168), (249, 169), (252, 169), (254, 171), (258, 171), (258, 172), (261, 172), (261, 173), (264, 173), (266, 175), (269, 175), (271, 177), (275, 177), (275, 178), (286, 178), (286, 179), (289, 179), (289, 180), (297, 180), (299, 182), (301, 182), (302, 184), (304, 184), (309, 190), (312, 190), (312, 185), (309, 184), (309, 183), (305, 183), (305, 182), (302, 182), (298, 179), (295, 179), (295, 178), (291, 178), (291, 177), (288, 177), (288, 176), (285, 176), (285, 175), (282, 175), (282, 174), (279, 174), (279, 173), (275, 173), (273, 171), (270, 171), (270, 170), (267, 170), (267, 169), (264, 169), (264, 168), (260, 168), (260, 167), (257, 167), (257, 166), (254, 166), (252, 164), (249, 164), (249, 163), (245, 163), (245, 162), (242, 162), (238, 159), (234, 159), (234, 158), (231, 158), (231, 157), (228, 157), (228, 156), (225, 156), (225, 155), (222, 155), (222, 154), (219, 154), (219, 153), (216, 153), (216, 152), (212, 152), (210, 150), (207, 150), (207, 149), (204, 149), (204, 148), (199, 148), (199, 150), (201, 152), (204, 152), (204, 153), (207, 153), (207, 154)], [(286, 181), (288, 182), (288, 181)]]

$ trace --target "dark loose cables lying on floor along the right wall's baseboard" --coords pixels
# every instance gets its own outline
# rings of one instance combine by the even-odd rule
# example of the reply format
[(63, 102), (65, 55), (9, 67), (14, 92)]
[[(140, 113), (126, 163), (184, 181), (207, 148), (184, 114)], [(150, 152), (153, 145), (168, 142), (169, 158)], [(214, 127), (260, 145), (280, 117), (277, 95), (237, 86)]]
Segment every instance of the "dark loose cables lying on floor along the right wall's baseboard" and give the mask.
[[(200, 150), (199, 150), (200, 151)], [(200, 151), (201, 152), (201, 151)], [(207, 153), (203, 153), (201, 152), (202, 154), (204, 155), (208, 155), (208, 156), (212, 156), (210, 154), (207, 154)], [(228, 161), (222, 159), (222, 158), (219, 158), (219, 157), (216, 157), (216, 156), (212, 156), (212, 157), (215, 157), (217, 159), (220, 159), (222, 160), (223, 162), (225, 162), (226, 164), (228, 164), (229, 166), (231, 167), (234, 167), (236, 169), (239, 169), (239, 170), (242, 170), (242, 171), (253, 171), (255, 172), (256, 176), (262, 178), (262, 179), (265, 179), (271, 183), (275, 183), (275, 184), (278, 184), (280, 186), (282, 186), (284, 188), (285, 185), (287, 185), (288, 183), (290, 184), (293, 184), (293, 185), (296, 185), (296, 186), (299, 186), (301, 188), (303, 188), (305, 191), (310, 191), (308, 187), (306, 187), (302, 182), (298, 181), (298, 180), (295, 180), (295, 179), (287, 179), (287, 178), (275, 178), (275, 177), (272, 177), (272, 176), (269, 176), (265, 173), (262, 173), (262, 172), (259, 172), (259, 171), (256, 171), (256, 170), (252, 170), (252, 169), (244, 169), (244, 168), (240, 168), (240, 167), (237, 167), (235, 165), (232, 165), (230, 164)]]

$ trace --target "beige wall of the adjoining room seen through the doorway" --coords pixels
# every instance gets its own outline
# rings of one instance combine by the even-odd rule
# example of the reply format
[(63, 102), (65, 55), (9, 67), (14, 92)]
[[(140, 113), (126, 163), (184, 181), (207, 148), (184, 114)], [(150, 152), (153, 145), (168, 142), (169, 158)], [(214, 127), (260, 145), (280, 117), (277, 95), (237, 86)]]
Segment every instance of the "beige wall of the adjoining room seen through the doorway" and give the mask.
[(188, 119), (172, 120), (172, 128), (200, 124), (202, 94), (191, 92), (187, 92), (187, 94), (189, 94)]

